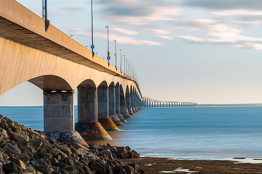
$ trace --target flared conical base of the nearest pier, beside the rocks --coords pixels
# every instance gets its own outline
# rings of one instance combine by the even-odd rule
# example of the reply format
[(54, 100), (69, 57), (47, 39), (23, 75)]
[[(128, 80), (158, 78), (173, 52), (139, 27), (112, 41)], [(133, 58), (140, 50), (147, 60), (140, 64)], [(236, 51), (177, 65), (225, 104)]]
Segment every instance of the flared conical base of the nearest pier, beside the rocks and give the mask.
[(43, 132), (43, 134), (56, 139), (58, 142), (67, 142), (74, 146), (77, 144), (87, 144), (85, 140), (81, 137), (81, 135), (77, 131), (70, 132)]

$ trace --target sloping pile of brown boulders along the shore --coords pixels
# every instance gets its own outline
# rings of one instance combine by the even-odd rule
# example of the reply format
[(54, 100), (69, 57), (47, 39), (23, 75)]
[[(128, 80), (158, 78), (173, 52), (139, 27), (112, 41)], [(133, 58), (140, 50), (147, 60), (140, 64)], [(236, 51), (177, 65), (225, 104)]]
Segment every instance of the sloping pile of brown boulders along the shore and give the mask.
[(0, 174), (144, 174), (127, 147), (59, 143), (0, 115)]

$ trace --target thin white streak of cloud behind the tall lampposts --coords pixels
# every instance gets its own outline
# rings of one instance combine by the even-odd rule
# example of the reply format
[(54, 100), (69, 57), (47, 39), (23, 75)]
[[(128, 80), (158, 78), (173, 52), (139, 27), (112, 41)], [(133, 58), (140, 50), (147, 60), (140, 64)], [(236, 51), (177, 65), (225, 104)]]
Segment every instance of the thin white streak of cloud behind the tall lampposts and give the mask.
[[(70, 29), (73, 31), (73, 34), (82, 35), (82, 36), (91, 36), (91, 33), (87, 32), (86, 28), (70, 28)], [(95, 32), (94, 37), (107, 40), (107, 34), (105, 32)], [(113, 32), (110, 34), (109, 39), (110, 38), (114, 38), (114, 40), (117, 40), (118, 44), (122, 44), (122, 45), (147, 45), (147, 46), (163, 45), (160, 42), (154, 42), (150, 40), (139, 40), (130, 36), (119, 36), (118, 33), (113, 33)]]

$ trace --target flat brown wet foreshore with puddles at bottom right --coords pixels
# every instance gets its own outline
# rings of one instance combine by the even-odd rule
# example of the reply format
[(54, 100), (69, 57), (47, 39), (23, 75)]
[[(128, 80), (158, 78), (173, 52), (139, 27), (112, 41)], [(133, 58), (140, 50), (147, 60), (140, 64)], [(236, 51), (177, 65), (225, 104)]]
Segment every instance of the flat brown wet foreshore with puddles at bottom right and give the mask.
[[(120, 159), (126, 163), (137, 163), (147, 174), (155, 173), (262, 173), (261, 163), (238, 163), (229, 160), (175, 160), (169, 158), (141, 157)], [(152, 165), (149, 165), (152, 164)], [(189, 169), (189, 170), (186, 170)], [(165, 172), (162, 172), (165, 171)], [(169, 171), (169, 172), (168, 172)]]

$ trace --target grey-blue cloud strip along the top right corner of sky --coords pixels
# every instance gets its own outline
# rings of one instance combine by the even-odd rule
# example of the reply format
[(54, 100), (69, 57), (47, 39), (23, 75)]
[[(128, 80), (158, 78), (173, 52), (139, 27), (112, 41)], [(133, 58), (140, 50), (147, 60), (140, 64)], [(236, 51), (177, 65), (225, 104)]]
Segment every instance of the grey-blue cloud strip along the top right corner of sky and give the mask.
[(260, 0), (185, 0), (183, 4), (208, 9), (262, 10), (262, 1)]

